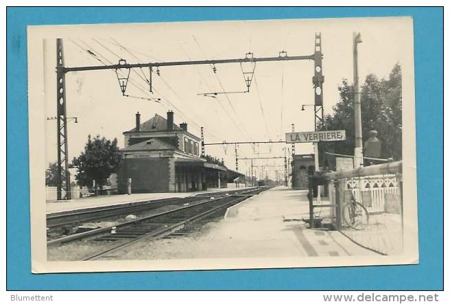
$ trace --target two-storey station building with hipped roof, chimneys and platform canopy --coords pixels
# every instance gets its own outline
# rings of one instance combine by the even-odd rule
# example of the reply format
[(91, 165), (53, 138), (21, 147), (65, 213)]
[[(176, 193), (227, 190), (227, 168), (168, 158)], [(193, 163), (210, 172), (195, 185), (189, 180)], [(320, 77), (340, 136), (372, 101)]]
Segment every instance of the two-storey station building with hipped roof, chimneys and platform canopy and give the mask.
[[(123, 132), (125, 147), (118, 174), (118, 191), (127, 193), (189, 192), (227, 187), (228, 169), (200, 156), (201, 139), (187, 123), (174, 124), (174, 112), (155, 114)], [(131, 180), (130, 180), (131, 179)]]

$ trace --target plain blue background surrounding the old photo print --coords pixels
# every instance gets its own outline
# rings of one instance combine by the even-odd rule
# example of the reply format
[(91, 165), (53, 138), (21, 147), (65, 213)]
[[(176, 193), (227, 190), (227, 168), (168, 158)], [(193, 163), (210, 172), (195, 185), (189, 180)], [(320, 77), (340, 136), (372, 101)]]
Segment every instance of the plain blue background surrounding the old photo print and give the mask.
[[(27, 25), (363, 16), (414, 17), (419, 265), (31, 274)], [(441, 290), (443, 288), (442, 8), (8, 8), (7, 17), (7, 287), (9, 290)]]

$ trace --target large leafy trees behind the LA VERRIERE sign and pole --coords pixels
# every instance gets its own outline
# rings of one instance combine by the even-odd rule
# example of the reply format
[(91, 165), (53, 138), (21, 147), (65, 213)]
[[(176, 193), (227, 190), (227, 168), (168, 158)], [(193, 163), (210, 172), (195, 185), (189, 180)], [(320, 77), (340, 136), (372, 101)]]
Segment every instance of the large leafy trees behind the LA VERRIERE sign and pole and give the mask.
[[(353, 155), (355, 151), (355, 113), (353, 85), (342, 80), (338, 87), (340, 101), (333, 114), (324, 117), (318, 130), (346, 130), (346, 141), (320, 142), (321, 151)], [(361, 88), (361, 117), (363, 142), (370, 130), (378, 131), (381, 157), (401, 159), (401, 66), (394, 65), (389, 78), (369, 74)]]

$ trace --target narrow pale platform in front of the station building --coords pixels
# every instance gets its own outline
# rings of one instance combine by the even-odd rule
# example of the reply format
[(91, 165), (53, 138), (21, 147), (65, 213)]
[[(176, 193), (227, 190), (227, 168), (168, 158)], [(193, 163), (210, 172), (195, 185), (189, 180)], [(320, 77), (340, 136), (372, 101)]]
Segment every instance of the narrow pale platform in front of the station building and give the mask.
[(233, 191), (248, 189), (249, 187), (240, 188), (211, 188), (206, 191), (194, 191), (194, 192), (170, 192), (170, 193), (147, 193), (147, 194), (117, 194), (111, 196), (95, 196), (89, 198), (76, 198), (73, 200), (65, 201), (51, 201), (47, 202), (47, 214), (61, 212), (61, 211), (73, 211), (80, 209), (88, 209), (95, 207), (110, 206), (115, 204), (128, 204), (130, 202), (141, 202), (144, 200), (158, 200), (161, 198), (185, 198), (188, 196), (197, 196), (199, 194), (213, 194), (218, 191)]

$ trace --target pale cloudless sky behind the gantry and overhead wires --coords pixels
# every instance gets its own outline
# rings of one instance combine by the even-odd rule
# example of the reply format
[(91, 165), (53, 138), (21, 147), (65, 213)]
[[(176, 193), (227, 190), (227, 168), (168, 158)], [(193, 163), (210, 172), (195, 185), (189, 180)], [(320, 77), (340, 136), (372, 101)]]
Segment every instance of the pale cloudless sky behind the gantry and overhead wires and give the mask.
[[(128, 63), (244, 58), (249, 51), (254, 57), (278, 56), (280, 51), (288, 56), (311, 55), (315, 34), (320, 32), (327, 114), (339, 100), (342, 79), (353, 82), (353, 32), (360, 32), (363, 39), (358, 47), (362, 83), (369, 73), (386, 78), (396, 62), (402, 64), (405, 52), (412, 51), (411, 38), (405, 36), (409, 26), (405, 18), (372, 18), (52, 27), (56, 31), (43, 40), (45, 115), (56, 116), (56, 36), (63, 39), (64, 65), (80, 67), (116, 64), (120, 58)], [(202, 93), (246, 90), (238, 63), (215, 65), (215, 69), (216, 73), (211, 65), (161, 67), (160, 75), (153, 73), (154, 93), (145, 82), (148, 69), (132, 69), (126, 94), (134, 97), (122, 96), (114, 70), (67, 73), (67, 116), (78, 117), (78, 124), (69, 121), (69, 159), (84, 150), (89, 134), (117, 137), (123, 147), (122, 132), (134, 128), (137, 111), (143, 122), (173, 110), (175, 123), (186, 121), (189, 132), (200, 136), (203, 126), (206, 143), (284, 140), (292, 124), (296, 131), (313, 130), (313, 107), (300, 110), (302, 104), (313, 104), (313, 61), (258, 62), (249, 93), (204, 97)], [(161, 102), (142, 97), (161, 98)], [(285, 147), (290, 150), (291, 145), (241, 144), (238, 155), (284, 156)], [(56, 120), (46, 121), (45, 150), (47, 163), (55, 161)], [(296, 154), (307, 153), (313, 153), (311, 143), (296, 144)], [(206, 145), (206, 154), (235, 168), (234, 145)], [(283, 159), (260, 159), (254, 165), (265, 166), (273, 179), (275, 170), (283, 172)], [(240, 172), (249, 166), (250, 161), (239, 161)]]

